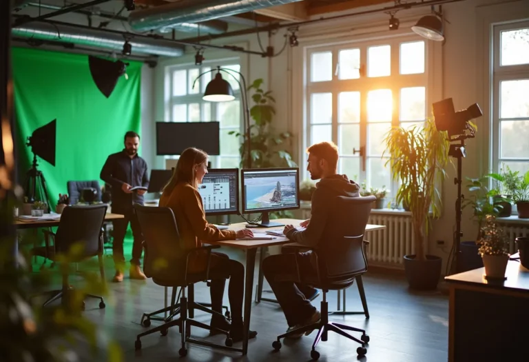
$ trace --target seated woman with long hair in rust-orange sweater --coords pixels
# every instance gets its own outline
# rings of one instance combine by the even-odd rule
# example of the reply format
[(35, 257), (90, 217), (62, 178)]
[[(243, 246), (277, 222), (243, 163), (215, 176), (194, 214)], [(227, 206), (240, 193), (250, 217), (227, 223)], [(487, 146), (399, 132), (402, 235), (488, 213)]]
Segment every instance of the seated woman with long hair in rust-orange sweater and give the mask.
[[(200, 248), (208, 241), (230, 240), (251, 237), (249, 229), (218, 230), (207, 223), (202, 197), (198, 185), (207, 174), (207, 154), (197, 148), (187, 148), (180, 154), (173, 176), (165, 186), (158, 205), (171, 208), (174, 212), (180, 239), (187, 250)], [(207, 253), (194, 253), (189, 257), (188, 272), (204, 272), (207, 267)], [(211, 253), (209, 267), (211, 277), (211, 309), (222, 314), (222, 296), (226, 279), (229, 278), (229, 304), (231, 323), (223, 316), (214, 314), (211, 327), (229, 331), (234, 342), (242, 341), (242, 298), (244, 295), (245, 268), (238, 261), (231, 260), (226, 254)], [(249, 338), (257, 332), (250, 331)]]

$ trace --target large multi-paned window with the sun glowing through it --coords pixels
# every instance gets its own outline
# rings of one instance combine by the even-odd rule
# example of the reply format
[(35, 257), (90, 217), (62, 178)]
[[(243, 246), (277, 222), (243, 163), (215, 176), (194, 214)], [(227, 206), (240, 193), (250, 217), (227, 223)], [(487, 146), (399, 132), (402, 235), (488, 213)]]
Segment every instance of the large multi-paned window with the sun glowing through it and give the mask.
[(414, 35), (317, 46), (306, 54), (304, 145), (334, 141), (339, 173), (395, 195), (383, 140), (392, 126), (426, 119), (426, 42)]

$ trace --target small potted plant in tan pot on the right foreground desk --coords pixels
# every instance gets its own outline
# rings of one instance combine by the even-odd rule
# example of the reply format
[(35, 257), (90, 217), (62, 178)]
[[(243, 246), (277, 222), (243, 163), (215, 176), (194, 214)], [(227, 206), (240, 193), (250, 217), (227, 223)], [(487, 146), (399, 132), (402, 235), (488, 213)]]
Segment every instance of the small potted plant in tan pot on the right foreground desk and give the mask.
[(494, 215), (486, 216), (486, 223), (481, 228), (481, 237), (476, 243), (479, 245), (478, 252), (483, 258), (487, 279), (506, 279), (509, 239), (504, 230), (497, 225)]

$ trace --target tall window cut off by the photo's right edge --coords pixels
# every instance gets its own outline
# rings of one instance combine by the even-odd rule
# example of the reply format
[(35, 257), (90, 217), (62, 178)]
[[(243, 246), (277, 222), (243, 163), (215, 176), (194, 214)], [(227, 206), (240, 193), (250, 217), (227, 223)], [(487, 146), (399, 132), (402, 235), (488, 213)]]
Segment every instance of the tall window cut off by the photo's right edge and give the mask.
[(492, 168), (529, 170), (529, 21), (494, 27)]

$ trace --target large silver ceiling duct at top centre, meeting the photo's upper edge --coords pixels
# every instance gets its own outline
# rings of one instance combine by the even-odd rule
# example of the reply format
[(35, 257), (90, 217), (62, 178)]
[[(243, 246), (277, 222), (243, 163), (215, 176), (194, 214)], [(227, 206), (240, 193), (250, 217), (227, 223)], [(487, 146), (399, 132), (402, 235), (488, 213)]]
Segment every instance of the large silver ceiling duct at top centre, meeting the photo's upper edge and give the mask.
[(145, 10), (134, 10), (129, 14), (129, 24), (134, 30), (143, 32), (180, 23), (213, 20), (298, 1), (301, 0), (180, 0)]

